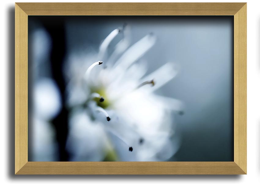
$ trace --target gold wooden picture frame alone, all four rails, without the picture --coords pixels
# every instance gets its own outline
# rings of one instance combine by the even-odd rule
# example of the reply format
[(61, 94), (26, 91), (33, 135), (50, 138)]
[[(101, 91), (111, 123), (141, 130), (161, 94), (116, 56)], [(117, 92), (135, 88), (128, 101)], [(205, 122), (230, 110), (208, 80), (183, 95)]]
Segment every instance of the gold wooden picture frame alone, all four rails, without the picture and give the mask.
[[(234, 162), (28, 162), (29, 15), (234, 16)], [(15, 174), (246, 174), (246, 3), (16, 3)]]

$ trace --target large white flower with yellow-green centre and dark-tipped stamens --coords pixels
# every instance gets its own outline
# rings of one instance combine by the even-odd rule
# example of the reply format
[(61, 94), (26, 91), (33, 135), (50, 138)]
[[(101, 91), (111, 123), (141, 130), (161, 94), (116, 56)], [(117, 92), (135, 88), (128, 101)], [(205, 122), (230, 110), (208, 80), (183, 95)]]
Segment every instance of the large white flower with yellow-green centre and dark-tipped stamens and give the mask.
[[(120, 32), (124, 38), (106, 57)], [(148, 34), (129, 47), (127, 26), (113, 30), (98, 54), (70, 55), (65, 69), (71, 109), (67, 148), (73, 161), (164, 161), (177, 151), (171, 111), (182, 104), (154, 93), (173, 79), (176, 67), (166, 63), (145, 76), (147, 64), (138, 62), (155, 41)]]

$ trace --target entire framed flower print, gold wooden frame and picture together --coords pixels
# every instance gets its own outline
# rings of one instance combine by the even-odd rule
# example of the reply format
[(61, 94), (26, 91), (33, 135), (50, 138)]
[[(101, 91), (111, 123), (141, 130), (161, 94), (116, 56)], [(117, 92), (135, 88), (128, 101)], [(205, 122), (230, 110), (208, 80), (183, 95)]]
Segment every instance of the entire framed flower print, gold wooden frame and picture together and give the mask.
[(16, 3), (15, 174), (246, 174), (246, 3)]

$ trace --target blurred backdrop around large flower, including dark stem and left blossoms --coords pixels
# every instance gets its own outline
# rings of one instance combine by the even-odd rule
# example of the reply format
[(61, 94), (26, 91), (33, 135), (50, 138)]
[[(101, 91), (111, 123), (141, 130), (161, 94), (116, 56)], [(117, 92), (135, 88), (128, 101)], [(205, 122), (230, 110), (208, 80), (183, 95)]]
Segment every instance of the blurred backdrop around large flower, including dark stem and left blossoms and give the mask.
[(174, 116), (180, 147), (169, 161), (233, 161), (232, 16), (28, 16), (28, 160), (69, 160), (65, 58), (98, 50), (124, 24), (131, 27), (132, 44), (147, 33), (157, 36), (142, 57), (147, 73), (166, 62), (179, 67), (156, 91), (185, 106)]

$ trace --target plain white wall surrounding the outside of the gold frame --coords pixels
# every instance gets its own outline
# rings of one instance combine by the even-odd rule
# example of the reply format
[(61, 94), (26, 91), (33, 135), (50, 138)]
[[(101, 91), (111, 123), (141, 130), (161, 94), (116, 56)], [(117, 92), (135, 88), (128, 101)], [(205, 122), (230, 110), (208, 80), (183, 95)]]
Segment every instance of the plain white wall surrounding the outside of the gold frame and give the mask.
[[(20, 2), (20, 1), (17, 1)], [(27, 1), (37, 2), (37, 1)], [(39, 1), (51, 2), (51, 1)], [(58, 2), (58, 1), (56, 1)], [(69, 2), (69, 1), (60, 1)], [(71, 1), (72, 2), (72, 1)], [(77, 1), (81, 2), (81, 1)], [(86, 1), (85, 1), (86, 2)], [(89, 1), (97, 2), (97, 1)], [(100, 1), (109, 2), (109, 1)], [(112, 2), (112, 1), (111, 1)], [(120, 1), (113, 1), (120, 2)], [(126, 1), (138, 2), (138, 1)], [(173, 2), (173, 1), (142, 1)], [(180, 1), (177, 2), (196, 2)], [(199, 1), (199, 2), (210, 2)], [(245, 2), (245, 1), (211, 1)], [(247, 1), (247, 175), (222, 176), (19, 176), (14, 175), (14, 2), (1, 1), (1, 183), (259, 183), (260, 1)]]

